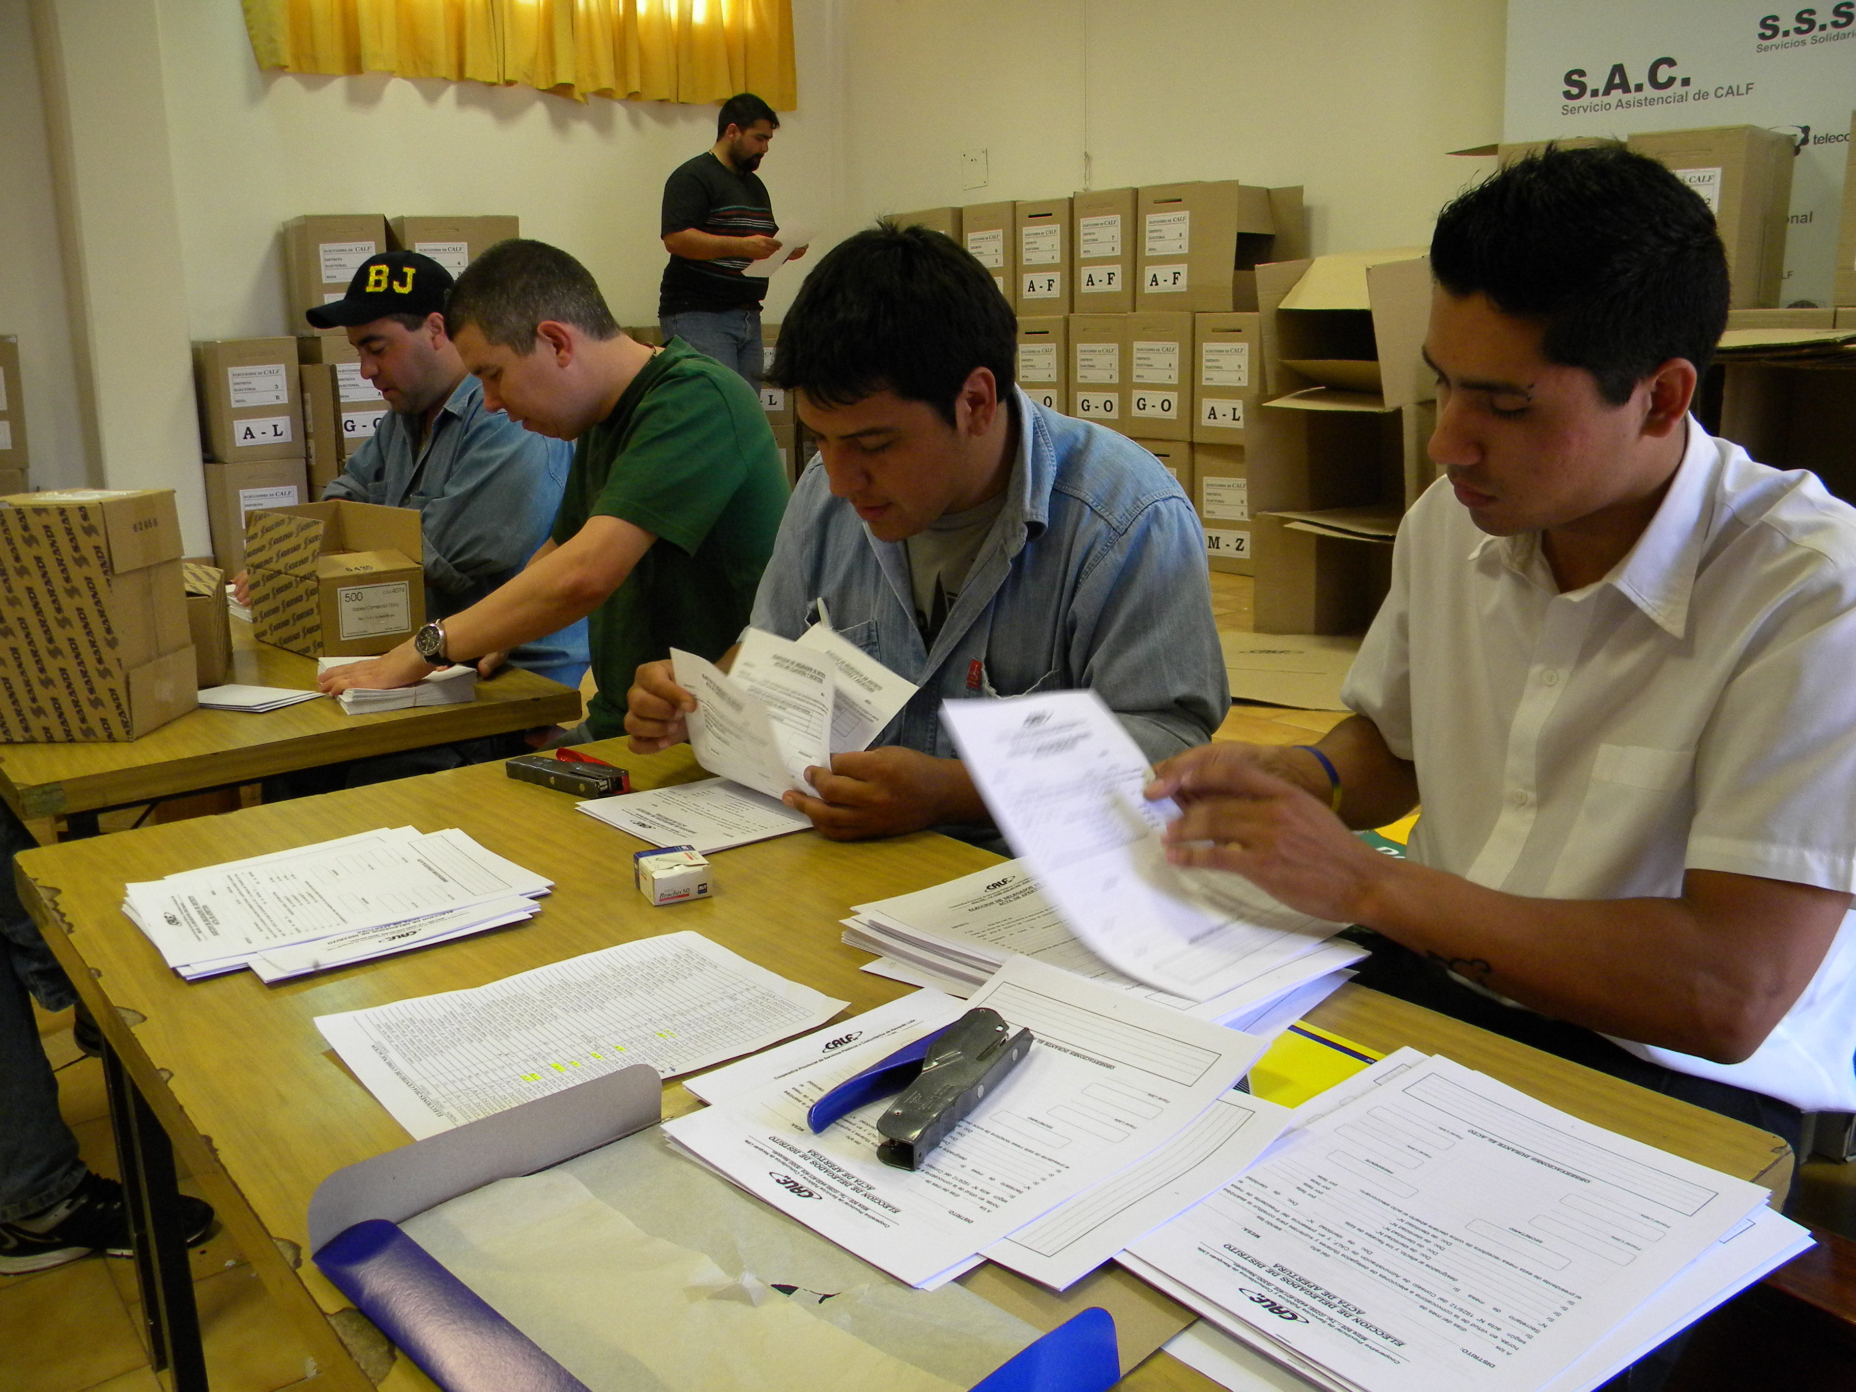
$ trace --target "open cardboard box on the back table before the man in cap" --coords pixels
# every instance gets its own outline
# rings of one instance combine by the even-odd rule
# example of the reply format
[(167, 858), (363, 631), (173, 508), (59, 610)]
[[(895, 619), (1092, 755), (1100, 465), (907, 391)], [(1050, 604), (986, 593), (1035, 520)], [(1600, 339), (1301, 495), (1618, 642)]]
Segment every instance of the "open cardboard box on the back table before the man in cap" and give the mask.
[(425, 622), (419, 514), (338, 499), (252, 512), (251, 624), (304, 657), (369, 657)]

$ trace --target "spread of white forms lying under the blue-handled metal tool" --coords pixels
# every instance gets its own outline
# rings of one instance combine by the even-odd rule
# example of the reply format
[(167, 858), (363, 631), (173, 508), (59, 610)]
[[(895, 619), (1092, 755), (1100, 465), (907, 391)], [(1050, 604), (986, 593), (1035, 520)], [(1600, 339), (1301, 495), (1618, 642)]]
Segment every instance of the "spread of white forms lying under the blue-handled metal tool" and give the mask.
[[(991, 1006), (1036, 1043), (917, 1171), (876, 1158), (878, 1099), (820, 1134), (806, 1110), (896, 1049)], [(1264, 1041), (1013, 958), (971, 1002), (917, 991), (692, 1080), (664, 1132), (900, 1281), (984, 1258), (1063, 1288), (1244, 1171), (1290, 1112), (1232, 1091)]]

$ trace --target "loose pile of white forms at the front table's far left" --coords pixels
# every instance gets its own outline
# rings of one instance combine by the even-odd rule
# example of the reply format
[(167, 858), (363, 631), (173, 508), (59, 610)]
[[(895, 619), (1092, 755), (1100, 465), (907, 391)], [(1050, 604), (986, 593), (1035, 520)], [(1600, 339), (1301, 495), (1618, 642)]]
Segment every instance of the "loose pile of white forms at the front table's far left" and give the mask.
[(522, 922), (549, 889), (457, 828), (397, 826), (132, 883), (122, 911), (187, 980), (277, 982)]

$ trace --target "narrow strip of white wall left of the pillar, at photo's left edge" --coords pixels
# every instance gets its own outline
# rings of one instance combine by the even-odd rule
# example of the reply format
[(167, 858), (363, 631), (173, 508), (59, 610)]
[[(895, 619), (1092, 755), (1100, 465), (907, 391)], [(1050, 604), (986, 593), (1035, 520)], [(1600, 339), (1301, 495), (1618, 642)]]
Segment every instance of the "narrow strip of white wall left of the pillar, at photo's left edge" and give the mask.
[[(35, 486), (89, 483), (45, 95), (26, 0), (0, 0), (0, 334), (19, 334)], [(11, 386), (11, 384), (9, 384)]]

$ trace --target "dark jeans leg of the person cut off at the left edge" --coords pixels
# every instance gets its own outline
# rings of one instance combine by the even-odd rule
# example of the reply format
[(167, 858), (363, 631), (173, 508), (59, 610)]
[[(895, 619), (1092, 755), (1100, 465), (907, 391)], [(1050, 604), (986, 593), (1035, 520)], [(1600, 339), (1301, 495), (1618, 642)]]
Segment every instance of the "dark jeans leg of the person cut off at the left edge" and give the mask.
[(13, 889), (13, 856), (37, 843), (0, 804), (0, 1223), (50, 1208), (82, 1182), (78, 1138), (58, 1114), (58, 1078), (39, 1043), (32, 997), (46, 1010), (78, 999)]

